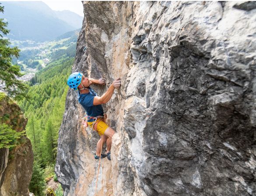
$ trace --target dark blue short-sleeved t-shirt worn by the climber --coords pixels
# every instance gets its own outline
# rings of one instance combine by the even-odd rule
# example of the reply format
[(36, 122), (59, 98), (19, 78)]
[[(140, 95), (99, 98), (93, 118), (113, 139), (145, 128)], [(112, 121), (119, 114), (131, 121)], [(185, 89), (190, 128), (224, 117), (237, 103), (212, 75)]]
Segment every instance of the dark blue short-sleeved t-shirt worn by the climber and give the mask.
[[(93, 99), (95, 96), (98, 96), (97, 93), (92, 90), (92, 88), (89, 89), (90, 92), (80, 94), (80, 91), (78, 90), (78, 102), (84, 107), (86, 113), (88, 116), (96, 117), (98, 115), (104, 115), (102, 105), (93, 105)], [(88, 122), (92, 122), (93, 119), (91, 118), (88, 120)]]

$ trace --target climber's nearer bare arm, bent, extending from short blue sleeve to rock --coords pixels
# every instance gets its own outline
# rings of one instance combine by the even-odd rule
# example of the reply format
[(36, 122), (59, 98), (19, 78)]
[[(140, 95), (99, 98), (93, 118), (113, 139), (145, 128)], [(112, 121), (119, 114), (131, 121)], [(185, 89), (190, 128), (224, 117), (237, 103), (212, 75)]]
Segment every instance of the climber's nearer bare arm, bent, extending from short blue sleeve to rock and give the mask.
[(117, 78), (115, 81), (113, 81), (109, 89), (101, 97), (94, 97), (93, 105), (100, 105), (100, 104), (107, 103), (111, 99), (115, 88), (119, 88), (120, 86), (121, 86), (120, 78)]

